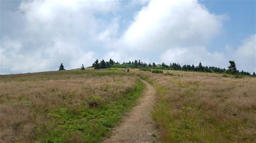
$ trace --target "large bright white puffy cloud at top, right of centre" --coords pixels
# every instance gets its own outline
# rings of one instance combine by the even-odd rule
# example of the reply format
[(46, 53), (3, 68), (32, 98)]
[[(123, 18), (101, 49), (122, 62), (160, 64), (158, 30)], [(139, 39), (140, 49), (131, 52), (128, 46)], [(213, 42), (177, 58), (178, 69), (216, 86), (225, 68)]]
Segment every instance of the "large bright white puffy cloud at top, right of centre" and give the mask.
[(138, 12), (120, 42), (126, 49), (140, 51), (201, 46), (220, 32), (223, 19), (196, 0), (152, 0)]

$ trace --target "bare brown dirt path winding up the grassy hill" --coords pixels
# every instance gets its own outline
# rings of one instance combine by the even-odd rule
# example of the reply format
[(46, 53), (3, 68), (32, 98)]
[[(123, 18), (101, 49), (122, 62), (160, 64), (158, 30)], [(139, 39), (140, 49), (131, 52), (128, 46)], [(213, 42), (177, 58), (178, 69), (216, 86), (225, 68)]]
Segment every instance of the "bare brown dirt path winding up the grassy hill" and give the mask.
[(103, 142), (155, 142), (156, 125), (151, 119), (152, 106), (155, 103), (156, 91), (148, 82), (143, 97), (138, 99), (139, 105), (135, 106), (122, 123), (113, 128), (112, 136)]

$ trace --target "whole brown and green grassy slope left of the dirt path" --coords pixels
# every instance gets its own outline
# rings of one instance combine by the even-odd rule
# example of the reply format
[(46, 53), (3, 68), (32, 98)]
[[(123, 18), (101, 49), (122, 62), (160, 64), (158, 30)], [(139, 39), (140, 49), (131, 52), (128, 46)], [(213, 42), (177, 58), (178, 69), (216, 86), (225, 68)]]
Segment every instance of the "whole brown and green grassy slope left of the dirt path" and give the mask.
[(0, 142), (99, 142), (143, 89), (122, 69), (0, 76)]

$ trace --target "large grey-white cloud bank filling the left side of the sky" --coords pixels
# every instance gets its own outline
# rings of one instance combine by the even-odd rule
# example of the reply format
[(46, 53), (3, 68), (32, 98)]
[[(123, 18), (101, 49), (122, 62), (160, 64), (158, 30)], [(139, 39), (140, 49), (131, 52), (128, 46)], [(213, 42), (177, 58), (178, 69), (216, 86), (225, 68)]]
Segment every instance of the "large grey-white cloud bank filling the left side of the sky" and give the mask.
[[(11, 17), (1, 25), (8, 31), (1, 31), (0, 74), (56, 70), (60, 62), (66, 69), (91, 66), (100, 31), (105, 31), (103, 39), (113, 33), (113, 28), (105, 30), (109, 22), (97, 16), (118, 8), (118, 1), (45, 0), (23, 1), (14, 11), (5, 10)], [(22, 18), (19, 31), (8, 25), (17, 17)]]

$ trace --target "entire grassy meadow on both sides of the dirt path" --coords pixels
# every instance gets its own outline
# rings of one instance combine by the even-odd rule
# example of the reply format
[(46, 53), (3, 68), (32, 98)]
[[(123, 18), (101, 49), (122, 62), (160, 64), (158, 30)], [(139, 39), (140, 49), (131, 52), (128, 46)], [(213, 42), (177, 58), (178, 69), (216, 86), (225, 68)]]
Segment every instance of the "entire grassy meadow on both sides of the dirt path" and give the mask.
[(137, 105), (140, 78), (157, 92), (159, 141), (256, 141), (255, 77), (86, 68), (0, 76), (0, 142), (100, 142)]

